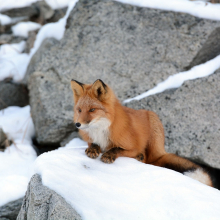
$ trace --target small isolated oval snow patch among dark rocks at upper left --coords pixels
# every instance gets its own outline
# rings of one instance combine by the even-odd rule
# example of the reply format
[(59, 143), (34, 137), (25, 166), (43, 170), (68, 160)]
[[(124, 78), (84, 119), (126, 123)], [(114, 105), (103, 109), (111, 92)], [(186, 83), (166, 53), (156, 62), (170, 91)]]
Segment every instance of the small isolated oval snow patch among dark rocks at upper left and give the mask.
[(27, 21), (27, 22), (20, 22), (14, 25), (12, 29), (12, 33), (15, 36), (21, 37), (28, 37), (29, 31), (35, 31), (41, 28), (41, 25), (35, 22)]

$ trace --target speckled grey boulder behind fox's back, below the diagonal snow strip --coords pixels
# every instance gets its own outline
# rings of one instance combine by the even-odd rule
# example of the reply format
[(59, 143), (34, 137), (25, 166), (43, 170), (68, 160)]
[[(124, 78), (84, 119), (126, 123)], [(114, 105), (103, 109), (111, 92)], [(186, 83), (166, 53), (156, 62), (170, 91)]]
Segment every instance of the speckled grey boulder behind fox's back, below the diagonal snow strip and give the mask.
[(165, 128), (166, 150), (220, 168), (220, 69), (176, 90), (126, 104), (156, 112)]

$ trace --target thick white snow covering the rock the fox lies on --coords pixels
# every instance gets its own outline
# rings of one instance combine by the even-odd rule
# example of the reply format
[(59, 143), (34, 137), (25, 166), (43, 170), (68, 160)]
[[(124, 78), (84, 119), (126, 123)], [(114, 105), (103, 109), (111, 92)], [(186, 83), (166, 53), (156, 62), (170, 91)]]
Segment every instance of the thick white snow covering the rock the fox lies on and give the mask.
[(131, 158), (105, 164), (87, 157), (85, 149), (85, 142), (73, 139), (35, 162), (43, 184), (82, 219), (219, 219), (218, 190)]

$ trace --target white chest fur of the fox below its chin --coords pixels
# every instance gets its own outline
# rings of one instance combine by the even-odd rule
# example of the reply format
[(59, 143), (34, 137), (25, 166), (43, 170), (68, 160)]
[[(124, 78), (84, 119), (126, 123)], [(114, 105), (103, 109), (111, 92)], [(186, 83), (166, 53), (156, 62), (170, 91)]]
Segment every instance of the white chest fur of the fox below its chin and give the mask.
[(92, 143), (100, 146), (102, 151), (105, 151), (109, 144), (109, 126), (110, 121), (107, 118), (100, 118), (90, 122), (86, 129)]

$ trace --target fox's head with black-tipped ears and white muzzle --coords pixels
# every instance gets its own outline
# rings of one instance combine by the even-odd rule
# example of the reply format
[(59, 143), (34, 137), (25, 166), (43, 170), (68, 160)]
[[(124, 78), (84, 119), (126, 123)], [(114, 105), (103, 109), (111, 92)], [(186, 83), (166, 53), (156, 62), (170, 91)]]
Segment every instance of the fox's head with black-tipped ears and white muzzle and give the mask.
[(108, 127), (112, 120), (112, 104), (115, 99), (111, 88), (98, 79), (93, 84), (71, 80), (74, 96), (74, 122), (82, 130)]

